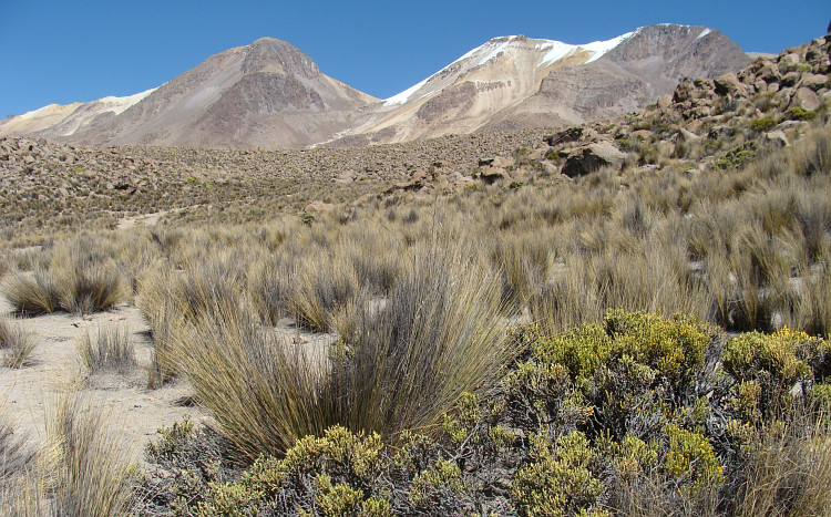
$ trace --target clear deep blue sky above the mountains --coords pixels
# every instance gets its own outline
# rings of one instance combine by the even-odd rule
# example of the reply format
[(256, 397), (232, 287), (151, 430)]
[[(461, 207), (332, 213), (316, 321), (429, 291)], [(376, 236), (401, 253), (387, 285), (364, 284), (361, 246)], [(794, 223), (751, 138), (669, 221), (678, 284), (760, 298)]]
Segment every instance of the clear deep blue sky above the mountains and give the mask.
[(0, 0), (0, 117), (137, 93), (266, 35), (383, 99), (499, 35), (577, 44), (668, 22), (778, 53), (824, 34), (829, 19), (829, 0)]

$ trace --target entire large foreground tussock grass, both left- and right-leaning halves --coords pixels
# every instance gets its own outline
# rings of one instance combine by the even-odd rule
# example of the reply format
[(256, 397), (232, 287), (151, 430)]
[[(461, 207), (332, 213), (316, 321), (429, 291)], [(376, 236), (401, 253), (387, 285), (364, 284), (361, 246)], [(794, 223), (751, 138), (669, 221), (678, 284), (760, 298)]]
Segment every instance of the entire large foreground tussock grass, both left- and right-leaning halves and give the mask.
[(509, 352), (493, 276), (465, 269), (458, 252), (414, 260), (382, 309), (356, 309), (355, 331), (328, 364), (216, 300), (211, 313), (220, 317), (183, 330), (176, 368), (252, 457), (335, 424), (389, 438), (435, 426), (462, 392), (494, 379)]

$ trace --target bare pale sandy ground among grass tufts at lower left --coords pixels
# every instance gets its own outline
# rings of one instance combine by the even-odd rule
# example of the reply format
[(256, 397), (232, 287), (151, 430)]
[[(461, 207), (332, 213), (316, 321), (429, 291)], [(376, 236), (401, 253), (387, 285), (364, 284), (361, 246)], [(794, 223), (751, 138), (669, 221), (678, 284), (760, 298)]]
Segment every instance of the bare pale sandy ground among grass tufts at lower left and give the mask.
[[(11, 310), (0, 296), (0, 312), (8, 314)], [(123, 437), (124, 446), (136, 454), (156, 436), (160, 426), (184, 417), (197, 423), (207, 420), (198, 407), (185, 405), (192, 393), (184, 381), (158, 390), (147, 387), (152, 342), (146, 333), (150, 328), (135, 307), (121, 306), (86, 318), (53, 313), (17, 321), (37, 337), (37, 345), (23, 368), (0, 366), (0, 404), (6, 406), (6, 415), (14, 424), (16, 433), (28, 436), (34, 445), (44, 437), (45, 415), (58, 393), (79, 379), (82, 395), (104, 411)], [(122, 324), (130, 330), (135, 341), (137, 366), (124, 373), (102, 372), (84, 378), (74, 338), (106, 324)]]

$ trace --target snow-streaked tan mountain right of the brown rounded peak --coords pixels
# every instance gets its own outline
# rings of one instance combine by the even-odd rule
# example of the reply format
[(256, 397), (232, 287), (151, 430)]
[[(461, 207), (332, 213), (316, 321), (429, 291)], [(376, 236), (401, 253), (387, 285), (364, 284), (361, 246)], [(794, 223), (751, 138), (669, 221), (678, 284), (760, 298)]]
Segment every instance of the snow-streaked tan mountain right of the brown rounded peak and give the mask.
[(749, 61), (706, 27), (650, 25), (582, 45), (496, 38), (388, 99), (334, 143), (576, 125), (643, 107), (685, 76), (716, 77)]

